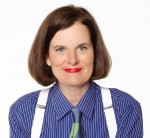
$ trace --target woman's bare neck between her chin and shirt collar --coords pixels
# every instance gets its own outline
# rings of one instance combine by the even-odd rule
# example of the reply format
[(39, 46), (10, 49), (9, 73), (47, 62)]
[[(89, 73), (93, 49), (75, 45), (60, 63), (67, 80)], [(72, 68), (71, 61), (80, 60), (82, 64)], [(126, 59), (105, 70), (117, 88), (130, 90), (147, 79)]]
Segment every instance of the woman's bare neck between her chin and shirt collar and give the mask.
[(59, 84), (59, 87), (69, 103), (71, 103), (72, 106), (76, 106), (86, 92), (88, 85), (89, 83), (83, 86), (64, 86)]

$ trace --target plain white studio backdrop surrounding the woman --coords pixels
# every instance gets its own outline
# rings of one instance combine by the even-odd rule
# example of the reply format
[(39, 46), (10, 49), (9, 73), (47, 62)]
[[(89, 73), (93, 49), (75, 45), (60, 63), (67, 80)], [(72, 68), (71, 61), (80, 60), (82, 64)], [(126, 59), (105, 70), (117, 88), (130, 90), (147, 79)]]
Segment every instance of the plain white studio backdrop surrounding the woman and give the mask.
[(36, 32), (53, 9), (75, 4), (96, 18), (113, 65), (101, 86), (128, 92), (142, 106), (144, 137), (150, 137), (150, 4), (145, 0), (1, 0), (0, 137), (9, 137), (10, 105), (42, 89), (29, 75), (27, 58)]

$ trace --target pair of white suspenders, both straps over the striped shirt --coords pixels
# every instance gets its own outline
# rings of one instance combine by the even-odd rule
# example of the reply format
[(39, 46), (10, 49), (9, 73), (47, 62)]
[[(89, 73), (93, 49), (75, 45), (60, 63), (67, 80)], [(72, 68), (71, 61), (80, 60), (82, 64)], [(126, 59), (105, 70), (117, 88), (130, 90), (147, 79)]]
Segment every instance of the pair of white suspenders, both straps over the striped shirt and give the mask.
[[(50, 88), (43, 89), (39, 93), (39, 98), (37, 101), (35, 115), (33, 119), (31, 138), (40, 137), (49, 89)], [(115, 113), (112, 106), (111, 94), (109, 89), (104, 87), (101, 87), (101, 94), (103, 99), (103, 106), (104, 106), (104, 112), (107, 121), (109, 136), (110, 138), (115, 138), (117, 132), (117, 125), (116, 125)]]

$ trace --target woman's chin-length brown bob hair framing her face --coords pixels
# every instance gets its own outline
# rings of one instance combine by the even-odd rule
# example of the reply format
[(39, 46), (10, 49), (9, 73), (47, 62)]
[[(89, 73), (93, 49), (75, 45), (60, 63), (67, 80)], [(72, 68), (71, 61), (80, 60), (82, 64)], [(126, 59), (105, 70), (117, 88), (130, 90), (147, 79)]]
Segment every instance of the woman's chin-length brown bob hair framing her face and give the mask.
[(107, 77), (111, 68), (111, 58), (105, 47), (99, 27), (93, 16), (83, 7), (67, 5), (52, 11), (41, 24), (28, 58), (31, 76), (41, 85), (48, 86), (56, 81), (51, 67), (46, 64), (49, 44), (54, 35), (75, 22), (85, 25), (94, 48), (94, 70), (90, 80)]

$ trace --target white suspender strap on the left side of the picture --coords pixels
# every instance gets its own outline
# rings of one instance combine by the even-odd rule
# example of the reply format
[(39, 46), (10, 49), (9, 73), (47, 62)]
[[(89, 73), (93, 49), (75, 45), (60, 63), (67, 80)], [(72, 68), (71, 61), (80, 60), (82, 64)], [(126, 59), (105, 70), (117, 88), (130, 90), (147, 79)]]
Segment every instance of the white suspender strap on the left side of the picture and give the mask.
[(45, 107), (47, 103), (49, 89), (43, 89), (39, 93), (39, 98), (35, 108), (35, 115), (33, 119), (31, 138), (39, 138), (42, 130)]

